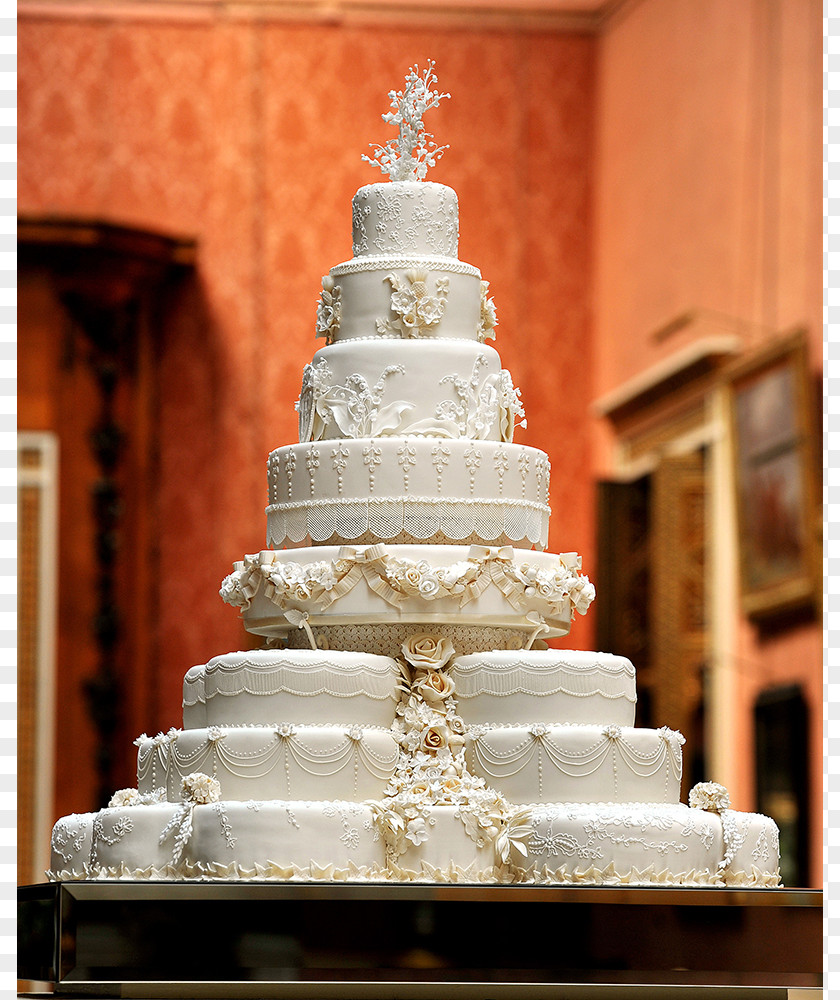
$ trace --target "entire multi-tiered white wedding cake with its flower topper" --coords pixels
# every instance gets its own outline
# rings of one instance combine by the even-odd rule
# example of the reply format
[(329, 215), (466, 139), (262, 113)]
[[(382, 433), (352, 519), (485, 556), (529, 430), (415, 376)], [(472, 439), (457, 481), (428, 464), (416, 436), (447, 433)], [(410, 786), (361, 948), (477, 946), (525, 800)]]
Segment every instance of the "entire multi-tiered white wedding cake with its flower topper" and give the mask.
[(268, 460), (269, 548), (222, 585), (268, 648), (187, 672), (183, 729), (56, 824), (52, 878), (778, 884), (771, 820), (712, 783), (680, 803), (683, 738), (634, 728), (630, 662), (545, 648), (594, 590), (544, 551), (548, 458), (512, 443), (493, 300), (424, 180), (435, 82), (391, 94), (390, 180), (353, 198), (300, 443)]

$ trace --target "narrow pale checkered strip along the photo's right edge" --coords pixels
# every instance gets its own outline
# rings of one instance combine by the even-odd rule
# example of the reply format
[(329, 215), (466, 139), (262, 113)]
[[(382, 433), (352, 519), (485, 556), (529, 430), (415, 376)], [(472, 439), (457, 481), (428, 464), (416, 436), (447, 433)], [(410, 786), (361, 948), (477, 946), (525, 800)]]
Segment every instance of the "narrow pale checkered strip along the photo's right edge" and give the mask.
[(823, 880), (826, 995), (840, 984), (840, 0), (826, 0), (823, 20)]

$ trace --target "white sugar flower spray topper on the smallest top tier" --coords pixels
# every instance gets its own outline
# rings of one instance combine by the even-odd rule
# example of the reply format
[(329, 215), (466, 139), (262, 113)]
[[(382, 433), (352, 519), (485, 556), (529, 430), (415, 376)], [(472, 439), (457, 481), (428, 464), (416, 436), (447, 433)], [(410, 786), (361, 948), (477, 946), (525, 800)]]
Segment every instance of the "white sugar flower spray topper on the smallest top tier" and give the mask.
[(449, 146), (431, 142), (433, 136), (423, 124), (423, 115), (430, 108), (439, 107), (444, 97), (452, 96), (433, 90), (432, 84), (435, 83), (435, 64), (430, 59), (422, 76), (419, 67), (413, 66), (405, 78), (405, 90), (392, 90), (388, 94), (394, 110), (387, 111), (382, 120), (386, 125), (396, 125), (399, 135), (384, 146), (371, 143), (375, 149), (373, 156), (362, 154), (362, 159), (378, 165), (392, 181), (422, 181), (429, 167), (433, 167), (443, 151), (449, 149)]

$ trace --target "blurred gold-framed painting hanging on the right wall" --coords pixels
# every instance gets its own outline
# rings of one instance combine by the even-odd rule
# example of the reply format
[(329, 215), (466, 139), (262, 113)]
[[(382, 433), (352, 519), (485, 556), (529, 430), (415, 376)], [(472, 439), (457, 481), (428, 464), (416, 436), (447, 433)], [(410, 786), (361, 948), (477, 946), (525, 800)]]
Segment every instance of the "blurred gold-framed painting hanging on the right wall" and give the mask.
[(766, 617), (817, 595), (814, 413), (802, 331), (729, 374), (745, 614)]

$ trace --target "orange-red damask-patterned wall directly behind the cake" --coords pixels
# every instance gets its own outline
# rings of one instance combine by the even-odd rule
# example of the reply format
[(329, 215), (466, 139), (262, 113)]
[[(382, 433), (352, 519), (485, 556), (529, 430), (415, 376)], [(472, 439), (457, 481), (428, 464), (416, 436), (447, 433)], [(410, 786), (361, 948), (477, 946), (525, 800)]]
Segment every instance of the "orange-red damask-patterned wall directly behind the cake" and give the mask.
[[(19, 207), (198, 241), (160, 331), (161, 655), (141, 725), (178, 725), (186, 669), (248, 641), (218, 585), (264, 544), (265, 459), (296, 440), (320, 278), (351, 255), (350, 199), (377, 178), (360, 154), (388, 138), (387, 92), (427, 57), (453, 95), (428, 120), (452, 146), (434, 179), (458, 191), (460, 256), (491, 283), (528, 414), (518, 439), (553, 461), (551, 548), (591, 570), (594, 38), (126, 10), (22, 8)], [(590, 635), (582, 619), (573, 642)]]

